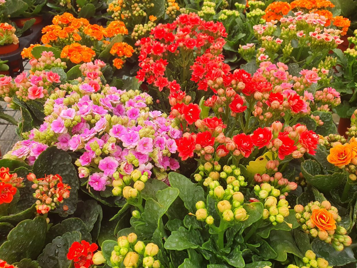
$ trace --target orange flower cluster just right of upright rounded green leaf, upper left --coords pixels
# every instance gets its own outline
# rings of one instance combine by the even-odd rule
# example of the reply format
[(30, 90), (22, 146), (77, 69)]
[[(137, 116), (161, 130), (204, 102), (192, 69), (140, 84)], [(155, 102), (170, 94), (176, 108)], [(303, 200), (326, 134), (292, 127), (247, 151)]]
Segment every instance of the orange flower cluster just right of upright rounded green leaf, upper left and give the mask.
[(93, 49), (79, 43), (66, 45), (61, 52), (61, 58), (67, 58), (72, 63), (90, 62), (94, 59), (95, 52)]

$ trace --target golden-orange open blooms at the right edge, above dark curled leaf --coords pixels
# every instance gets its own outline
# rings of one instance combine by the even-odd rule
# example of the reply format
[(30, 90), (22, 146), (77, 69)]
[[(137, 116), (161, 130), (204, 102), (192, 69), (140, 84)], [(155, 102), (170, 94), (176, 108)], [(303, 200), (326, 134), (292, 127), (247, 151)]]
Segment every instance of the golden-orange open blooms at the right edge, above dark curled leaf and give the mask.
[(350, 143), (336, 144), (330, 149), (330, 154), (327, 156), (327, 161), (334, 164), (336, 167), (345, 167), (350, 163), (357, 164), (357, 139), (354, 137)]

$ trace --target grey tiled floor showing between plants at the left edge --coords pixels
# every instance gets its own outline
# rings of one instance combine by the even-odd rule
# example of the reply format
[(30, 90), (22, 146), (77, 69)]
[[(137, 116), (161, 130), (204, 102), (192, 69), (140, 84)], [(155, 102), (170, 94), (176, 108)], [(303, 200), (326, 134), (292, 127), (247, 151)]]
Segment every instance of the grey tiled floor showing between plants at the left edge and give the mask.
[[(25, 71), (30, 69), (30, 64), (28, 62), (24, 63)], [(4, 101), (0, 101), (0, 109), (3, 110), (6, 114), (13, 116), (16, 120), (19, 120), (21, 113), (20, 111), (14, 111), (10, 108), (7, 108)], [(6, 154), (11, 150), (12, 146), (19, 140), (15, 133), (16, 125), (12, 125), (9, 122), (0, 119), (0, 150), (1, 155)]]

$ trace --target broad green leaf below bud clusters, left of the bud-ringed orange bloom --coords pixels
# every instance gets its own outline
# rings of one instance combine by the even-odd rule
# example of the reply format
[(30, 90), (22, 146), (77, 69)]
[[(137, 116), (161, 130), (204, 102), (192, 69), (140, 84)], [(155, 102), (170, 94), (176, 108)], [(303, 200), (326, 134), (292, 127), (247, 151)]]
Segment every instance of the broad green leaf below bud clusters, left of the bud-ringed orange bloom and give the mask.
[[(272, 230), (270, 233), (270, 245), (278, 254), (275, 258), (279, 262), (285, 262), (287, 253), (292, 253), (299, 258), (303, 258), (304, 254), (298, 249), (292, 235), (292, 232), (282, 230)], [(305, 252), (304, 252), (305, 253)]]

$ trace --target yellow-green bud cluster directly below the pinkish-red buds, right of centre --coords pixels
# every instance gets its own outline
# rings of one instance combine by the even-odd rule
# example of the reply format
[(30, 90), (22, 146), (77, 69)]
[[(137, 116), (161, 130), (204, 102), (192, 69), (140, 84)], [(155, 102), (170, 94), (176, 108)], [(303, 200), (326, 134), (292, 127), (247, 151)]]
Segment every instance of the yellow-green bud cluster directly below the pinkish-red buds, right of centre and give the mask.
[(286, 199), (280, 199), (278, 202), (275, 197), (269, 196), (262, 203), (264, 204), (262, 219), (268, 219), (273, 225), (284, 222), (284, 218), (289, 215), (290, 206)]

